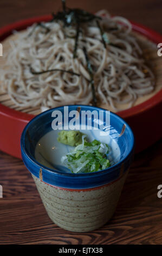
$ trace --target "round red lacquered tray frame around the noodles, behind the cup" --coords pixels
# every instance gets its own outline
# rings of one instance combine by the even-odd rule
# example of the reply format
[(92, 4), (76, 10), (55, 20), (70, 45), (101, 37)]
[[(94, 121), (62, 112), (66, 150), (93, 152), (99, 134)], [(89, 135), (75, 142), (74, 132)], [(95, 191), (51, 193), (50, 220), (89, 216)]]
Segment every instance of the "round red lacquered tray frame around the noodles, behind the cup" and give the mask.
[[(21, 31), (34, 22), (49, 21), (51, 15), (34, 17), (22, 20), (0, 29), (0, 41), (12, 34), (12, 31)], [(148, 39), (159, 44), (162, 36), (150, 28), (131, 22), (133, 30), (145, 35)], [(158, 50), (158, 48), (157, 48)], [(159, 57), (160, 58), (160, 57)], [(160, 119), (162, 114), (162, 89), (147, 101), (117, 113), (132, 127), (135, 135), (135, 153), (146, 149), (161, 136)], [(20, 138), (27, 123), (34, 115), (15, 111), (0, 104), (0, 150), (12, 156), (21, 158)]]

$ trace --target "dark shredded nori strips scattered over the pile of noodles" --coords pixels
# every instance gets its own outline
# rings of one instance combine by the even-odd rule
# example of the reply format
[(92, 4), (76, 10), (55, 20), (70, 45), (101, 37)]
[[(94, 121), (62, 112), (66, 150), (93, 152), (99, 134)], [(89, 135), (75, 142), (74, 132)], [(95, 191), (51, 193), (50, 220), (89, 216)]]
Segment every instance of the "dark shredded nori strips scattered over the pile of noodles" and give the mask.
[[(68, 38), (74, 38), (75, 39), (75, 45), (74, 45), (74, 51), (73, 51), (73, 58), (77, 57), (77, 48), (78, 48), (78, 41), (79, 41), (79, 34), (82, 32), (82, 23), (86, 23), (86, 22), (90, 22), (95, 20), (99, 29), (100, 29), (100, 33), (102, 36), (102, 42), (104, 47), (106, 47), (106, 41), (104, 39), (103, 36), (103, 31), (101, 29), (100, 23), (99, 21), (102, 20), (101, 17), (96, 16), (94, 14), (88, 13), (85, 10), (82, 9), (70, 9), (66, 6), (66, 0), (62, 0), (62, 11), (57, 12), (56, 14), (52, 13), (53, 18), (49, 21), (49, 22), (58, 22), (58, 21), (62, 21), (64, 27), (68, 27), (68, 26), (75, 26), (76, 27), (76, 34), (75, 36), (71, 36), (71, 35), (67, 35), (65, 32), (65, 35)], [(30, 32), (29, 36), (34, 32), (35, 28), (37, 26), (41, 26), (42, 28), (45, 29), (46, 33), (48, 33), (50, 31), (50, 28), (46, 27), (46, 25), (44, 25), (43, 23), (39, 22), (37, 23), (37, 25), (34, 27), (33, 31)], [(96, 106), (97, 103), (97, 99), (96, 99), (96, 94), (95, 94), (95, 87), (94, 87), (94, 79), (93, 79), (93, 69), (92, 66), (90, 64), (89, 61), (89, 57), (87, 54), (87, 50), (86, 47), (83, 47), (83, 52), (85, 53), (85, 57), (87, 60), (87, 69), (90, 75), (90, 84), (91, 84), (91, 88), (92, 88), (92, 95), (93, 95), (93, 104), (94, 106)], [(30, 72), (33, 75), (41, 75), (47, 72), (55, 72), (55, 71), (61, 71), (61, 72), (67, 72), (69, 74), (72, 75), (76, 75), (76, 76), (80, 76), (80, 74), (74, 73), (72, 71), (67, 71), (67, 70), (61, 70), (61, 69), (50, 69), (50, 70), (44, 70), (44, 71), (35, 71), (33, 68), (31, 68), (30, 66)]]

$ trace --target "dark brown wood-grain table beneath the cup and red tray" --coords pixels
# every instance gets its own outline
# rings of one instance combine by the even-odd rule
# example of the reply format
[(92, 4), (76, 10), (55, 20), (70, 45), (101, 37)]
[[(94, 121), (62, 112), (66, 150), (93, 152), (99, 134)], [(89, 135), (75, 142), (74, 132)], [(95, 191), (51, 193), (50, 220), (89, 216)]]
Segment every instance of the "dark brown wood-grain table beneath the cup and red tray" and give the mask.
[[(67, 2), (70, 7), (89, 11), (109, 9), (114, 15), (125, 16), (162, 33), (160, 0)], [(1, 0), (0, 26), (48, 14), (60, 6), (59, 0)], [(135, 156), (112, 220), (98, 230), (82, 234), (63, 230), (50, 221), (22, 161), (1, 152), (0, 244), (162, 244), (162, 198), (157, 197), (157, 187), (162, 184), (161, 145), (159, 141)]]

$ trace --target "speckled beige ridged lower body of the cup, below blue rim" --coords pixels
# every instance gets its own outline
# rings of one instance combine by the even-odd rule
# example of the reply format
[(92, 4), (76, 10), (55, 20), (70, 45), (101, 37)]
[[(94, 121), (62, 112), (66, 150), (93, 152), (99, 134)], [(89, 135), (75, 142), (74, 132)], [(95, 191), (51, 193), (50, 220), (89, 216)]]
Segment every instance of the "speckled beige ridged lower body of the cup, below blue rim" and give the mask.
[(89, 190), (65, 190), (32, 175), (51, 220), (69, 231), (86, 232), (100, 228), (113, 216), (127, 172), (118, 180)]

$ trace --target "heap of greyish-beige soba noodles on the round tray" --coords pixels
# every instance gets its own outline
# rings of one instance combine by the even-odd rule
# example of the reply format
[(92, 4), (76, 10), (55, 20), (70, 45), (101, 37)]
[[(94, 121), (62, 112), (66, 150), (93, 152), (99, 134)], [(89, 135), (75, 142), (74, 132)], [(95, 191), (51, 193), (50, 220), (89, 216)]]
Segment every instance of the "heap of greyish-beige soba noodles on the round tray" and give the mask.
[(93, 105), (92, 77), (96, 105), (102, 102), (114, 109), (116, 103), (131, 107), (154, 90), (154, 76), (131, 24), (105, 11), (97, 15), (103, 15), (100, 28), (96, 20), (81, 24), (75, 58), (76, 24), (54, 20), (17, 32), (17, 39), (10, 41), (7, 68), (1, 70), (2, 89), (17, 106)]

